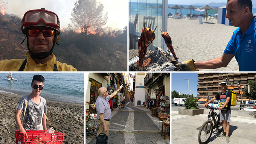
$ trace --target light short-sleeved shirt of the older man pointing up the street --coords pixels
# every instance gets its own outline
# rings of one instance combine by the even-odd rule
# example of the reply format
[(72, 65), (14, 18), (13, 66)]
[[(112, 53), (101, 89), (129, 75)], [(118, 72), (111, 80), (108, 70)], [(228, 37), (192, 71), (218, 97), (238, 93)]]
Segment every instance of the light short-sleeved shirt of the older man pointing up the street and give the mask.
[[(109, 99), (110, 99), (110, 95), (108, 95), (105, 98), (98, 96), (98, 98), (95, 102), (97, 114), (103, 114), (104, 119), (107, 119), (107, 120), (110, 120), (112, 117), (111, 109), (110, 109), (110, 105), (109, 105)], [(99, 119), (99, 115), (97, 115), (96, 118)]]

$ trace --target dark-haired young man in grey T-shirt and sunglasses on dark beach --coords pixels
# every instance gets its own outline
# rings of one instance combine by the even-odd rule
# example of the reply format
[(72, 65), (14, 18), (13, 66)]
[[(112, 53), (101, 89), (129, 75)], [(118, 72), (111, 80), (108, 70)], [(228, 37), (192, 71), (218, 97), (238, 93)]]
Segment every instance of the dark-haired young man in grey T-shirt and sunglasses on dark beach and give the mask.
[[(30, 95), (25, 95), (20, 99), (16, 106), (15, 114), (16, 124), (22, 133), (25, 130), (47, 130), (46, 128), (46, 100), (40, 96), (44, 87), (44, 77), (35, 75), (33, 77)], [(23, 113), (23, 120), (21, 124), (20, 115)]]

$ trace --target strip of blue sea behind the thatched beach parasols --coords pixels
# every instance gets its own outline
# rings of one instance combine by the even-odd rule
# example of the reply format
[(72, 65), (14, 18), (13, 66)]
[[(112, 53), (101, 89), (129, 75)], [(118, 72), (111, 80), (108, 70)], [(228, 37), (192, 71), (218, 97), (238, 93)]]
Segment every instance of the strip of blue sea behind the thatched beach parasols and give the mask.
[[(153, 7), (150, 7), (151, 5)], [(160, 5), (162, 5), (162, 3), (139, 3), (138, 4), (137, 2), (129, 2), (129, 15), (139, 14), (139, 15), (147, 15), (147, 16), (161, 16), (162, 8), (157, 8)], [(172, 7), (174, 5), (168, 4), (168, 6)], [(181, 6), (181, 5), (178, 5), (178, 6)], [(187, 8), (190, 5), (182, 5), (182, 6), (184, 8)], [(193, 6), (199, 8), (199, 9), (200, 9), (200, 7), (202, 7), (202, 6), (197, 6), (197, 5), (193, 5)], [(224, 6), (226, 6), (226, 5), (224, 5)], [(212, 8), (216, 8), (216, 6), (212, 6)], [(168, 14), (169, 13), (176, 14), (177, 11), (180, 14), (180, 9), (175, 10), (175, 9), (168, 8)], [(253, 11), (253, 14), (255, 14), (256, 8), (253, 8), (252, 11)], [(186, 16), (187, 14), (190, 14), (190, 9), (181, 9), (181, 12), (184, 16)], [(216, 11), (216, 13), (218, 13), (218, 12)], [(200, 12), (200, 11), (192, 10), (191, 14), (196, 14), (196, 15), (204, 14), (204, 11)], [(214, 14), (215, 13), (213, 12), (212, 15), (214, 16)], [(208, 14), (208, 15), (211, 15), (211, 14)]]

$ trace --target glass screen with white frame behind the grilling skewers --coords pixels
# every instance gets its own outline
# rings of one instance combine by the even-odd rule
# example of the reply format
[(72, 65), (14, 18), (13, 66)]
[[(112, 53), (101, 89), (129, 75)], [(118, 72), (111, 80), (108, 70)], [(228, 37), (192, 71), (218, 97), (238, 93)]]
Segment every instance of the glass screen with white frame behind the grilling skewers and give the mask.
[(146, 27), (155, 26), (155, 39), (148, 50), (154, 50), (156, 46), (167, 50), (161, 36), (160, 29), (167, 29), (168, 0), (129, 0), (129, 49), (138, 49), (137, 43), (140, 38), (144, 22)]

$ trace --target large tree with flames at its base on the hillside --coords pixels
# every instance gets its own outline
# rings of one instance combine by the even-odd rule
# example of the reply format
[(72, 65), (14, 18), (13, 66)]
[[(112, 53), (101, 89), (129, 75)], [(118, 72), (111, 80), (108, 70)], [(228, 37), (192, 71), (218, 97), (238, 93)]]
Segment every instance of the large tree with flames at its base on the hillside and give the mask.
[(104, 5), (96, 0), (78, 0), (71, 12), (70, 20), (77, 29), (100, 30), (107, 23), (108, 13), (103, 13)]

